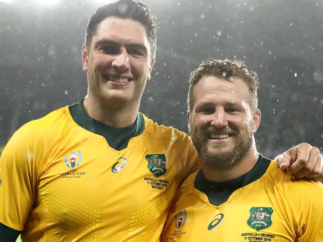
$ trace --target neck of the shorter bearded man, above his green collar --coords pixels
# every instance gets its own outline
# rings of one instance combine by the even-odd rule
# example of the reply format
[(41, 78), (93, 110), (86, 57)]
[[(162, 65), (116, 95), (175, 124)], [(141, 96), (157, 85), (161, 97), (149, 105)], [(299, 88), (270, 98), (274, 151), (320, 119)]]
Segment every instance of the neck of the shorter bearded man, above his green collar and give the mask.
[(203, 175), (206, 179), (212, 182), (225, 182), (241, 177), (249, 172), (256, 164), (259, 158), (259, 153), (256, 150), (253, 142), (249, 151), (238, 161), (233, 167), (227, 169), (216, 169), (207, 166), (204, 162), (201, 163)]

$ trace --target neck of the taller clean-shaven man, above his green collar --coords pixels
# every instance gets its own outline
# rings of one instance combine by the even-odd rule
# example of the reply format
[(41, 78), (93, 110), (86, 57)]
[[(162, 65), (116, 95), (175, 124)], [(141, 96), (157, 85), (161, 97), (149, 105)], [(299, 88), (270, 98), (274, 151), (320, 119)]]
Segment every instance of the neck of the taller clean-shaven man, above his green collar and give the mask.
[(89, 117), (113, 127), (130, 126), (136, 121), (139, 111), (139, 103), (103, 103), (89, 95), (84, 98), (82, 105)]

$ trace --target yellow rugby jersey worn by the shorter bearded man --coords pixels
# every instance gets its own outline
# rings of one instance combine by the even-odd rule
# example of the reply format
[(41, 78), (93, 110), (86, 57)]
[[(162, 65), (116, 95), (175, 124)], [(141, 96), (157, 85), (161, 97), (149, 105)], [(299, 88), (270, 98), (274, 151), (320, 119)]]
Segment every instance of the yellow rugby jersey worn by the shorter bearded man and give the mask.
[[(240, 188), (234, 182), (221, 188), (222, 182), (206, 180), (201, 170), (189, 176), (174, 198), (161, 241), (323, 241), (321, 183), (295, 180), (261, 155), (238, 180)], [(220, 204), (219, 195), (225, 202)]]

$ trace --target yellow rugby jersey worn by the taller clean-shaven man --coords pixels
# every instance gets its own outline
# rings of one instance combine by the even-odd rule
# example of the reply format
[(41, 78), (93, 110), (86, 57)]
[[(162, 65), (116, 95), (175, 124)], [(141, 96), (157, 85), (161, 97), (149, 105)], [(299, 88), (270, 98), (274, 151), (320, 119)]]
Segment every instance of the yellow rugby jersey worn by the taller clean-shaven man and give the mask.
[(185, 133), (141, 117), (143, 132), (122, 150), (69, 107), (23, 125), (0, 158), (0, 223), (27, 242), (160, 241), (197, 154)]

